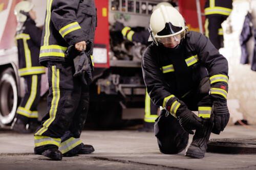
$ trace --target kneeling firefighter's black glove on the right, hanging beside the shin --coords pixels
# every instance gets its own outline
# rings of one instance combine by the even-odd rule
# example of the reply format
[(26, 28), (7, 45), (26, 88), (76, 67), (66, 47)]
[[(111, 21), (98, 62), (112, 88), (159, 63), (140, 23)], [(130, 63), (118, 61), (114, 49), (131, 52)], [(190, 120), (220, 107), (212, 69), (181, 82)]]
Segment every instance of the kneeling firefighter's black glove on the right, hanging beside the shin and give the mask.
[(226, 101), (215, 101), (213, 103), (212, 110), (214, 114), (214, 128), (212, 128), (211, 132), (215, 134), (220, 134), (221, 131), (223, 131), (226, 127), (229, 120), (229, 111)]

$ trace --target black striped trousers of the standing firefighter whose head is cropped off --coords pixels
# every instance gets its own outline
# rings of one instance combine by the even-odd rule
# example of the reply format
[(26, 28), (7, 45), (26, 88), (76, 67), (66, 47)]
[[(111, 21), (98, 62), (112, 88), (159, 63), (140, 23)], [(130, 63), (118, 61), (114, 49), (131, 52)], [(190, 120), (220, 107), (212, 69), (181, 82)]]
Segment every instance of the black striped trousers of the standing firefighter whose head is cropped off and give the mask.
[(80, 134), (86, 122), (89, 89), (74, 73), (73, 63), (48, 62), (48, 108), (34, 135), (35, 154), (56, 147), (62, 154), (75, 155), (83, 146)]

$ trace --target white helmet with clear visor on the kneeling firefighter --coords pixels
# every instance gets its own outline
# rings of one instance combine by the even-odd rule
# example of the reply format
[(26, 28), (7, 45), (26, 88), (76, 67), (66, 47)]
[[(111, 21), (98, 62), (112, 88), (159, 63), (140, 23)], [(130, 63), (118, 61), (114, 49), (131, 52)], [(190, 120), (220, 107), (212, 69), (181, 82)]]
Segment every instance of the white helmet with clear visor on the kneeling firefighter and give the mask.
[(161, 5), (156, 9), (150, 18), (151, 33), (149, 41), (158, 43), (169, 43), (179, 41), (185, 37), (185, 20), (177, 9)]

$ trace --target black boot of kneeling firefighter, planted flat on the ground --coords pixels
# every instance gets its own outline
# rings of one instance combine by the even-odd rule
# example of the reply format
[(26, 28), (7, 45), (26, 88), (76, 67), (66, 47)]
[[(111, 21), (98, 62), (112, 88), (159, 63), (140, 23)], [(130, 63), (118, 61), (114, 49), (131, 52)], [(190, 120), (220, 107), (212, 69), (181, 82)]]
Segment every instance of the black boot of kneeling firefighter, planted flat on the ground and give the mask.
[(204, 119), (203, 128), (196, 130), (193, 140), (185, 152), (185, 156), (199, 159), (204, 157), (213, 125), (211, 119)]

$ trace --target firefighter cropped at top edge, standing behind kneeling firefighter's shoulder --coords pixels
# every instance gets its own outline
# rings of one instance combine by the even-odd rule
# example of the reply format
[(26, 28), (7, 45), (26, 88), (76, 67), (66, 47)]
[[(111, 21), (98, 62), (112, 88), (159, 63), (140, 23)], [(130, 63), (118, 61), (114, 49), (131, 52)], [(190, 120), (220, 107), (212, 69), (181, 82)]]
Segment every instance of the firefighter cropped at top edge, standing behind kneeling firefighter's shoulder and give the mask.
[(227, 19), (232, 11), (232, 0), (207, 0), (204, 6), (205, 35), (219, 50), (224, 47), (221, 23)]

